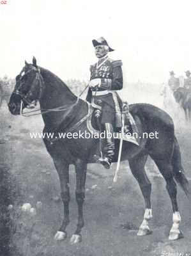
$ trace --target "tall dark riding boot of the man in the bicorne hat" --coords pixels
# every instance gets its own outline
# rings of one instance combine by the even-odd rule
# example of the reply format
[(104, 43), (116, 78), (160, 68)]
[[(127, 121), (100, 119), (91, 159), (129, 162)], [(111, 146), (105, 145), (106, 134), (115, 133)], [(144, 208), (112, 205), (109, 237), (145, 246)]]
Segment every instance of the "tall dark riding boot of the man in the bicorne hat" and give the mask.
[(107, 140), (107, 145), (104, 148), (105, 157), (100, 157), (99, 161), (106, 169), (109, 169), (111, 167), (115, 149), (112, 124), (105, 123), (105, 131)]

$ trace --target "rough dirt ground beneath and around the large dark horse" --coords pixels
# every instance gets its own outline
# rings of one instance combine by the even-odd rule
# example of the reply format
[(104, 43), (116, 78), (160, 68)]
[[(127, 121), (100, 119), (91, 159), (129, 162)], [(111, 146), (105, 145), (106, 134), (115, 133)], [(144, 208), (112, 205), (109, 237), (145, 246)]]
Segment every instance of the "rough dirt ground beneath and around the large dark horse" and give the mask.
[[(128, 163), (121, 164), (116, 184), (112, 182), (116, 164), (111, 170), (105, 170), (98, 164), (89, 164), (82, 243), (70, 244), (70, 237), (77, 223), (73, 166), (70, 168), (68, 237), (65, 241), (54, 241), (54, 234), (61, 224), (63, 214), (59, 179), (43, 141), (31, 139), (29, 136), (30, 131), (42, 131), (42, 120), (39, 116), (11, 116), (6, 104), (0, 109), (0, 115), (2, 256), (191, 255), (190, 202), (178, 188), (182, 218), (180, 227), (184, 238), (169, 241), (168, 234), (172, 225), (171, 202), (164, 179), (151, 161), (147, 163), (147, 172), (153, 184), (151, 235), (136, 235), (144, 214), (144, 201)], [(183, 167), (190, 180), (191, 132), (178, 127), (176, 136), (180, 143)], [(24, 203), (31, 204), (36, 209), (36, 214), (22, 212), (20, 207)], [(8, 209), (8, 205), (13, 205), (13, 208)]]

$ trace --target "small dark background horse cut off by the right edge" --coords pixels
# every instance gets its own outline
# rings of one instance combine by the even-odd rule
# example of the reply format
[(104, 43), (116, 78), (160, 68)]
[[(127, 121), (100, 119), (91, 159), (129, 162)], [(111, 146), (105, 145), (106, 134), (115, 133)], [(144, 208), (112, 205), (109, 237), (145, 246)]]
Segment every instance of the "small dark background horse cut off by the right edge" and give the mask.
[(185, 112), (187, 121), (191, 120), (191, 93), (187, 89), (180, 87), (174, 93), (174, 99), (180, 104)]

